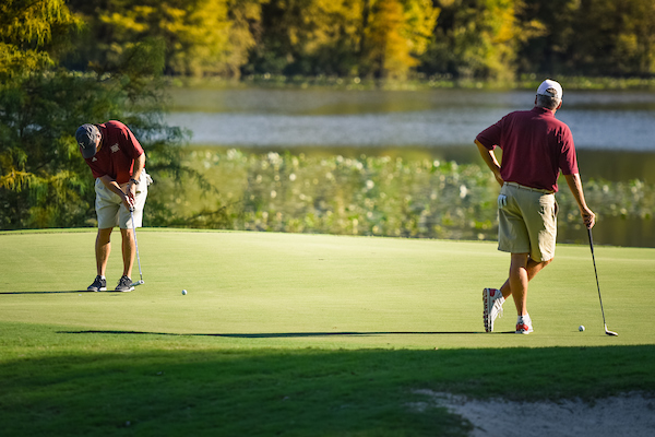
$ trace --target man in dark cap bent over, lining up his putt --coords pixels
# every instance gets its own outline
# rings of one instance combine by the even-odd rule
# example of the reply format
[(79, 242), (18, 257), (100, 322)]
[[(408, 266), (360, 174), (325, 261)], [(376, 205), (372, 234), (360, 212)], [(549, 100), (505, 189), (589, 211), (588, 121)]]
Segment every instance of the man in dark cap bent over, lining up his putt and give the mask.
[(95, 181), (95, 209), (98, 234), (95, 244), (97, 276), (91, 292), (107, 290), (105, 271), (111, 252), (111, 231), (120, 226), (123, 273), (117, 292), (131, 292), (134, 264), (134, 231), (142, 225), (150, 176), (145, 173), (145, 153), (134, 134), (120, 121), (82, 125), (75, 132), (80, 152), (91, 167)]

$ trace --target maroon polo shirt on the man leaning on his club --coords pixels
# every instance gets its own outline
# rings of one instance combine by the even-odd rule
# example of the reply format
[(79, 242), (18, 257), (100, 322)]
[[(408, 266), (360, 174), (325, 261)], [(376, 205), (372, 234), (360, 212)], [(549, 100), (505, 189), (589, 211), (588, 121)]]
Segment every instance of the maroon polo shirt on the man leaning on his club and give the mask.
[(560, 169), (579, 173), (571, 130), (549, 109), (510, 113), (476, 140), (488, 150), (502, 149), (500, 175), (507, 182), (557, 191)]

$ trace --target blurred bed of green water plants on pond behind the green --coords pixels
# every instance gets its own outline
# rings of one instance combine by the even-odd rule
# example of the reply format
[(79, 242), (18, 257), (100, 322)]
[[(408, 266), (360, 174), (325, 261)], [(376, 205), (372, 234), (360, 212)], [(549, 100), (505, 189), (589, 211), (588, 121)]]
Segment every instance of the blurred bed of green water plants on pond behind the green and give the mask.
[[(169, 215), (147, 225), (485, 240), (498, 234), (499, 187), (478, 165), (238, 150), (194, 151), (183, 163), (219, 191), (166, 190), (162, 210)], [(584, 236), (577, 204), (561, 184), (559, 228)], [(655, 187), (639, 180), (591, 180), (585, 196), (599, 222), (651, 220), (655, 211)]]

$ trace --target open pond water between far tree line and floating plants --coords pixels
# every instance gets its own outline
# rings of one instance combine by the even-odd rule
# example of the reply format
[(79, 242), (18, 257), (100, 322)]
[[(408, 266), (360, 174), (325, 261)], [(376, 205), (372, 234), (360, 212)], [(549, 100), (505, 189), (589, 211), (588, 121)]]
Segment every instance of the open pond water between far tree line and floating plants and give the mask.
[[(189, 129), (194, 147), (458, 163), (481, 163), (476, 134), (511, 110), (532, 108), (535, 98), (527, 91), (467, 90), (174, 88), (170, 94), (167, 122)], [(563, 102), (557, 117), (573, 132), (583, 180), (655, 184), (655, 93), (564, 90)], [(605, 240), (655, 247), (652, 223), (614, 223), (611, 233), (620, 237)]]

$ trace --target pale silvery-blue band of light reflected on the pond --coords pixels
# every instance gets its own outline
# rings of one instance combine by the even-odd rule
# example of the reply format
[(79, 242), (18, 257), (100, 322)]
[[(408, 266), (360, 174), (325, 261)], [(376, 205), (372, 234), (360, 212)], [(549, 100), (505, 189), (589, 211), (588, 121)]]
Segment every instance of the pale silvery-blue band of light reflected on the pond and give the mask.
[[(431, 147), (471, 144), (505, 114), (480, 107), (348, 115), (174, 113), (168, 121), (193, 131), (196, 144)], [(655, 150), (655, 110), (572, 109), (558, 118), (569, 125), (580, 150)]]

